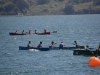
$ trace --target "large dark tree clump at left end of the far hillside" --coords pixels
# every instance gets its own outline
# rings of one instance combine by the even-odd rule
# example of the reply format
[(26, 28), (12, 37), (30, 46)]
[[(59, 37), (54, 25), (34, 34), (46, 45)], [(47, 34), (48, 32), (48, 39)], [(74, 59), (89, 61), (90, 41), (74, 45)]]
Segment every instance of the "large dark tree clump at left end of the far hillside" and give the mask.
[(18, 12), (26, 13), (29, 5), (25, 0), (0, 0), (1, 15), (16, 15)]

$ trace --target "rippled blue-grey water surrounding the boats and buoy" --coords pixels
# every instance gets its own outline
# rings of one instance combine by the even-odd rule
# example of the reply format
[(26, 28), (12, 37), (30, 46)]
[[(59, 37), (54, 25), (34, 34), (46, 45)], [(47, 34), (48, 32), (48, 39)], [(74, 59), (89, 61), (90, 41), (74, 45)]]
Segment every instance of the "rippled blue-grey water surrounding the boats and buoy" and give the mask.
[[(51, 35), (9, 36), (9, 32), (47, 29)], [(73, 50), (20, 51), (28, 41), (47, 47), (51, 41), (66, 46), (100, 43), (100, 15), (0, 16), (0, 75), (100, 75), (100, 67), (89, 67), (91, 56), (75, 56)]]

